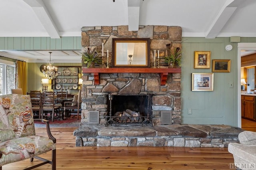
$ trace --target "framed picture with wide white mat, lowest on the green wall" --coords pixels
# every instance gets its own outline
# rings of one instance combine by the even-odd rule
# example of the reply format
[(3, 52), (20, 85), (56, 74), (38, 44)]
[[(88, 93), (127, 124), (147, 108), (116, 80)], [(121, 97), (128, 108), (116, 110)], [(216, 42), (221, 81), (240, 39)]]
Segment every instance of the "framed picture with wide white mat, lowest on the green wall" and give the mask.
[(213, 91), (214, 73), (192, 73), (192, 91)]

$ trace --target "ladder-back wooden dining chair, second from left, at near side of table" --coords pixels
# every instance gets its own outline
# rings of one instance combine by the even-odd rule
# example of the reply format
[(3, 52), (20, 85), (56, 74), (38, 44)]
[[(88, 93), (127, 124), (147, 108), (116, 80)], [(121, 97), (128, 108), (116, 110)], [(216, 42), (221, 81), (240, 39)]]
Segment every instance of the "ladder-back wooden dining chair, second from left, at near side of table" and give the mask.
[(60, 111), (60, 107), (54, 105), (54, 92), (42, 93), (41, 101), (42, 115), (48, 117), (48, 113), (50, 113), (50, 117), (52, 117), (52, 121), (54, 121), (54, 117), (58, 117), (58, 112)]

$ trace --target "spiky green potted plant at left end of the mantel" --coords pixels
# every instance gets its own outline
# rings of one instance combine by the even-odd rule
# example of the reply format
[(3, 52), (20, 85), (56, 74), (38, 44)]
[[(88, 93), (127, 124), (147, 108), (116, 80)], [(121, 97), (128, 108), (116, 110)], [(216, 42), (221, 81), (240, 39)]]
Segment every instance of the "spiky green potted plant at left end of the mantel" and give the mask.
[(94, 64), (98, 64), (101, 62), (101, 58), (99, 57), (96, 47), (92, 49), (92, 47), (88, 47), (87, 50), (82, 53), (82, 62), (87, 64), (87, 68), (94, 68)]

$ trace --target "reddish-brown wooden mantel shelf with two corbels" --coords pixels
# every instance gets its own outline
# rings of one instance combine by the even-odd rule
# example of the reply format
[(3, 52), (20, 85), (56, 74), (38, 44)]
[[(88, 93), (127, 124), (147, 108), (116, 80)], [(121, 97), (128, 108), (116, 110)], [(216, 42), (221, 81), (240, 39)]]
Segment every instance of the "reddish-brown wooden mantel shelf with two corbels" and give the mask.
[(166, 84), (168, 73), (179, 73), (181, 68), (82, 68), (83, 73), (94, 74), (94, 84), (100, 84), (99, 73), (159, 73), (161, 85)]

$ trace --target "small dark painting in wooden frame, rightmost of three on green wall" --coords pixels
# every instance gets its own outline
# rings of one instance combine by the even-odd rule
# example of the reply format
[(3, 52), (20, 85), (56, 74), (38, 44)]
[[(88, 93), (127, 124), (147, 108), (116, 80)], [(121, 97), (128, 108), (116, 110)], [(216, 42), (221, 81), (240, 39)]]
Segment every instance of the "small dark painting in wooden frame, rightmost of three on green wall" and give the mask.
[(231, 60), (212, 60), (212, 72), (230, 72)]

